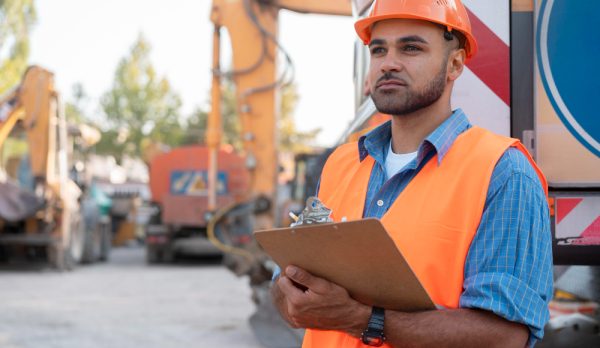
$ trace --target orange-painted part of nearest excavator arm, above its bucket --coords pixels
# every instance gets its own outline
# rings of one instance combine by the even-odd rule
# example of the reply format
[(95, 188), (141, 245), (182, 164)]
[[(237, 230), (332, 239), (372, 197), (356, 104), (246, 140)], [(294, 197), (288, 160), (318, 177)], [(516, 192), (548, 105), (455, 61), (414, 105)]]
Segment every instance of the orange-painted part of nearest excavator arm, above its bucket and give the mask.
[[(214, 23), (212, 107), (207, 126), (210, 149), (209, 209), (216, 210), (217, 151), (221, 143), (221, 81), (236, 87), (246, 166), (251, 173), (248, 198), (272, 200), (277, 184), (277, 114), (279, 89), (291, 82), (293, 67), (277, 38), (278, 12), (352, 15), (350, 0), (213, 0)], [(221, 29), (231, 41), (233, 67), (220, 66)], [(283, 53), (283, 54), (281, 54)], [(279, 57), (278, 57), (279, 56)], [(278, 68), (278, 58), (284, 63)], [(278, 75), (278, 71), (281, 73)], [(273, 218), (257, 228), (272, 227)]]

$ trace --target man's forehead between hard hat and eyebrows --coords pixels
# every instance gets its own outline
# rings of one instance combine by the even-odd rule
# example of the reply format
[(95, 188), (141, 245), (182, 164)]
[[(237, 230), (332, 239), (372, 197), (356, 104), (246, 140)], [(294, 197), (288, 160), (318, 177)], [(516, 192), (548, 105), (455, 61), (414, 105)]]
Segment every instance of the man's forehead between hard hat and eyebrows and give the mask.
[(383, 39), (378, 36), (405, 36), (405, 35), (438, 35), (443, 30), (437, 24), (418, 19), (384, 19), (373, 24), (371, 39)]

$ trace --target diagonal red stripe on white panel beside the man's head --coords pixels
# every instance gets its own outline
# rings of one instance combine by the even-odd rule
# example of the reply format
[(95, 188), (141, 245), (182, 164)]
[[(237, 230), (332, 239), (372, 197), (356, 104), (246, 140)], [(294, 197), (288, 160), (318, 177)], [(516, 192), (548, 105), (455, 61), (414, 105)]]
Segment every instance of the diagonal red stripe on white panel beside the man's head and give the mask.
[(467, 66), (494, 93), (510, 105), (510, 50), (493, 31), (467, 9), (479, 48)]

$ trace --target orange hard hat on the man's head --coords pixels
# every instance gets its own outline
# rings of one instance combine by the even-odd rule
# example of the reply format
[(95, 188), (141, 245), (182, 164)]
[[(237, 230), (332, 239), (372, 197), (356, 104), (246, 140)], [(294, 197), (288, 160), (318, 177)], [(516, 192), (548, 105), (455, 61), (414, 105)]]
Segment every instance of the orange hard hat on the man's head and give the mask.
[(373, 24), (394, 18), (420, 19), (441, 24), (450, 32), (457, 30), (466, 38), (467, 60), (477, 53), (477, 41), (471, 33), (469, 15), (460, 0), (375, 0), (369, 16), (358, 20), (354, 28), (364, 44), (368, 45)]

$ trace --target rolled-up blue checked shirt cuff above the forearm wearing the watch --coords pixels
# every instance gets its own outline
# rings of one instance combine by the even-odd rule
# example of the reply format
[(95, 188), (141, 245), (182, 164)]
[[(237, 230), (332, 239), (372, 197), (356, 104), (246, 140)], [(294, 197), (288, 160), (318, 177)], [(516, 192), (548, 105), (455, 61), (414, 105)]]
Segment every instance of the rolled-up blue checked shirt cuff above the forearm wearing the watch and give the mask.
[(461, 308), (483, 309), (529, 328), (528, 346), (544, 337), (549, 298), (507, 273), (478, 273), (464, 281)]

